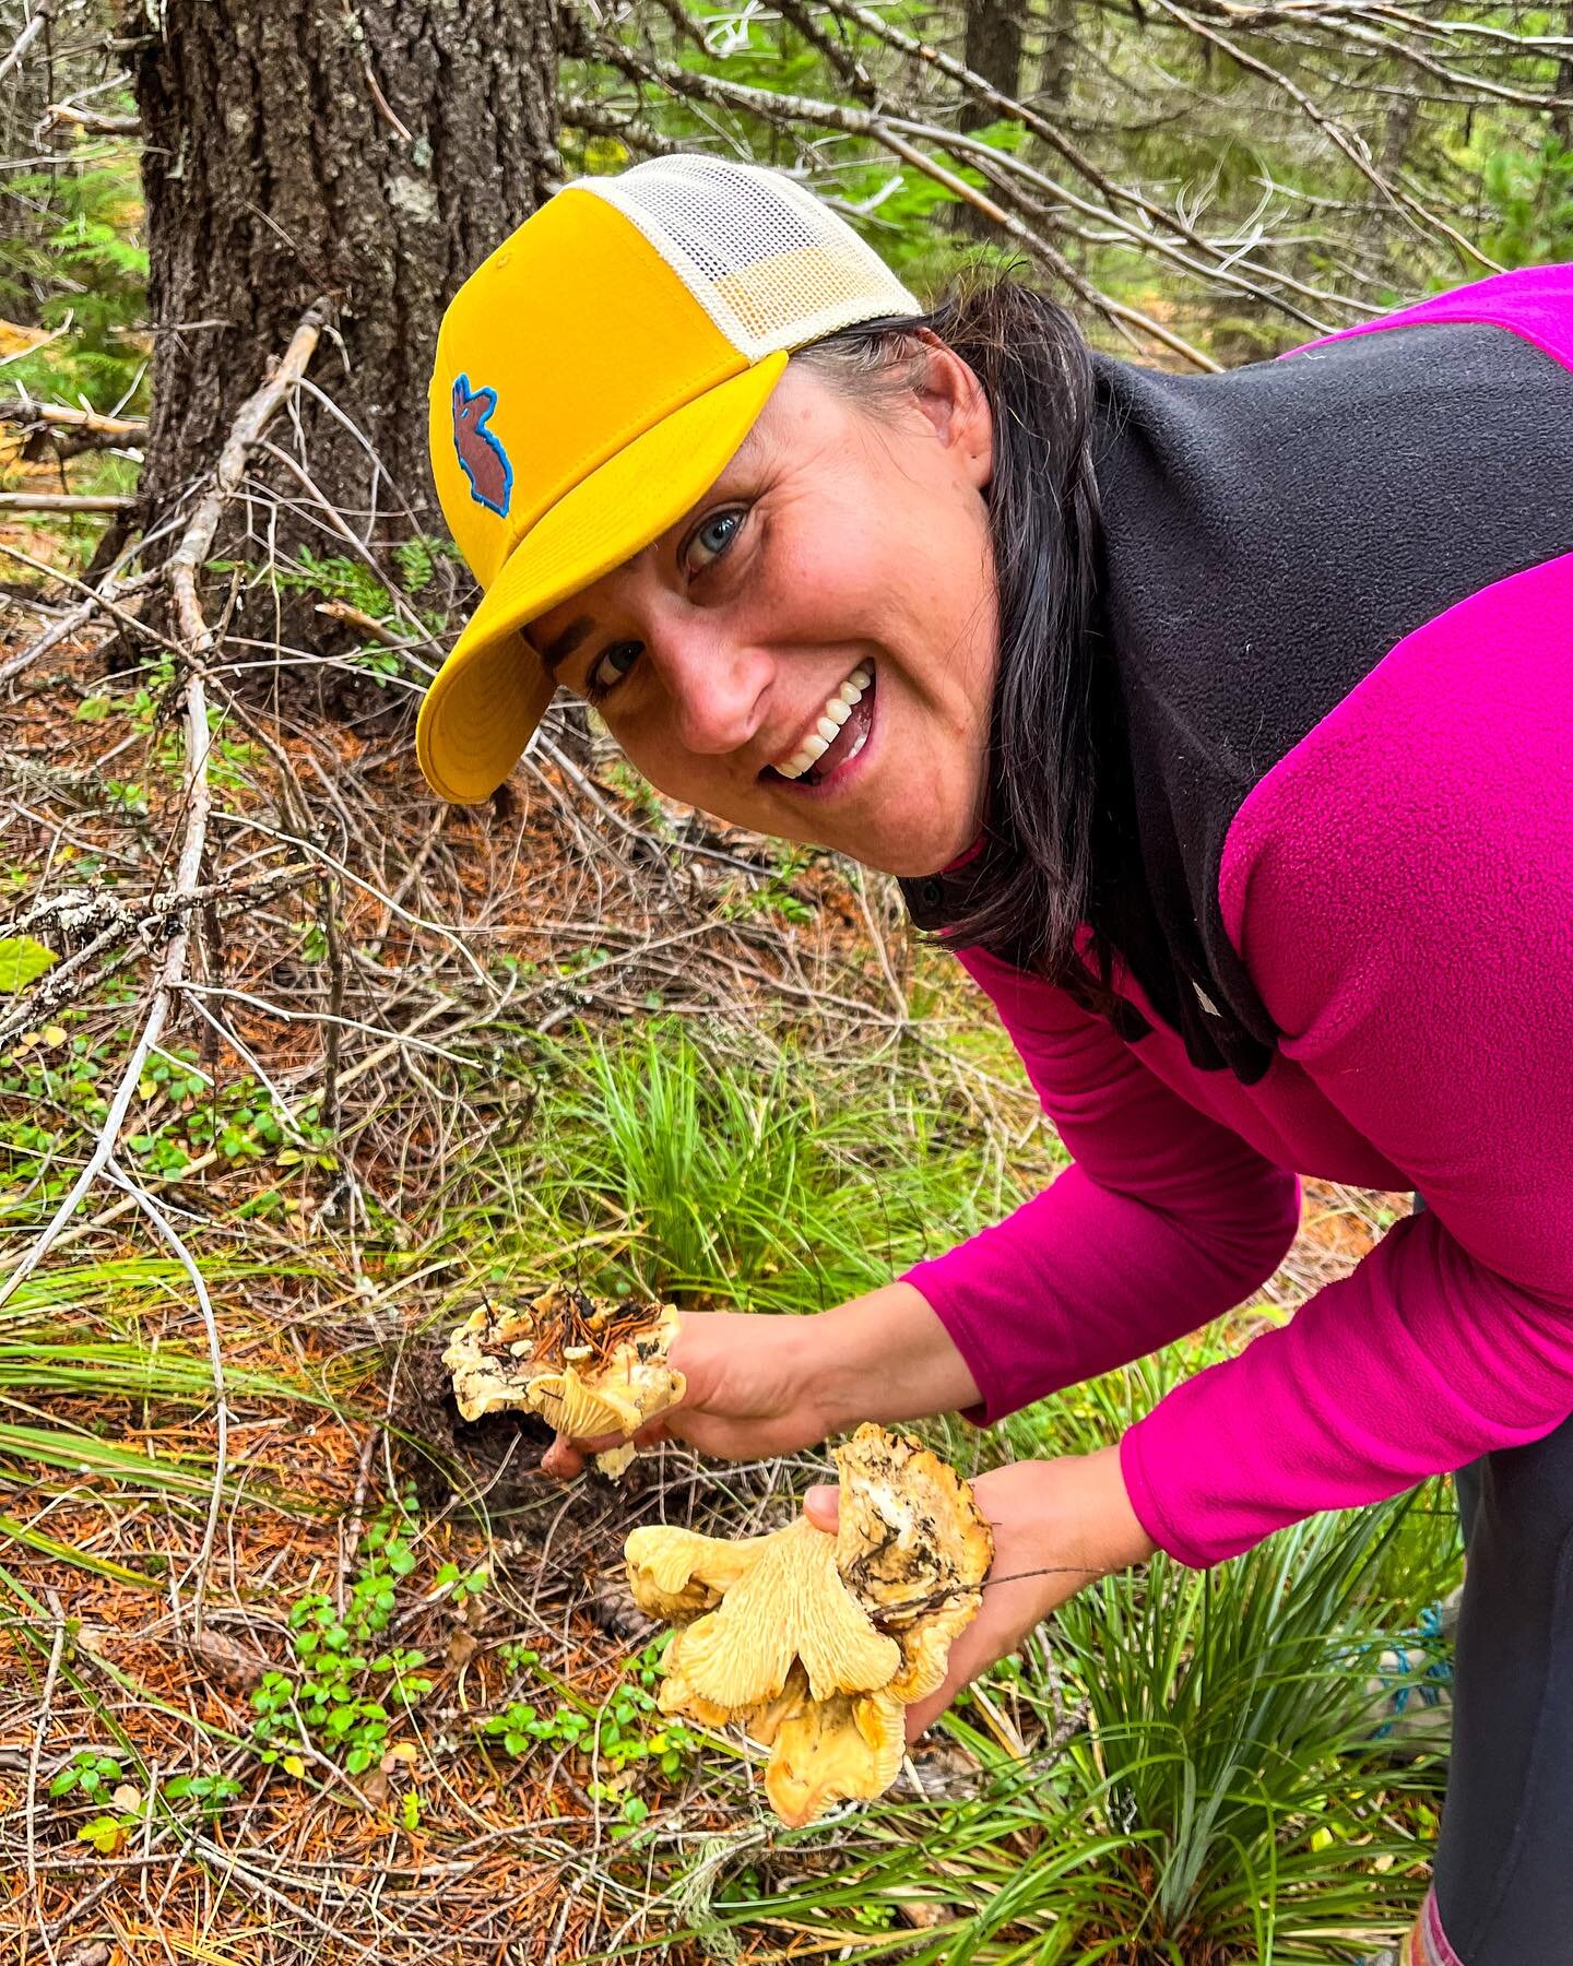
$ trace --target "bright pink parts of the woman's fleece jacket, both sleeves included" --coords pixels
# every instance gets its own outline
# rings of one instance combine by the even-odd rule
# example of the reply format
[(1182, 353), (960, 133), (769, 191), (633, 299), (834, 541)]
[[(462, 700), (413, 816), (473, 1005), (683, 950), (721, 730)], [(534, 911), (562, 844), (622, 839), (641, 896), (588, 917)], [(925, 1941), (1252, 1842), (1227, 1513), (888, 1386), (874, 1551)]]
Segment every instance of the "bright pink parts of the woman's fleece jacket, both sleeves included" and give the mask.
[[(1573, 368), (1573, 267), (1528, 311), (1522, 277), (1506, 299), (1486, 279), (1349, 332), (1426, 320), (1494, 320)], [(1192, 1565), (1573, 1414), (1573, 550), (1400, 641), (1247, 796), (1219, 896), (1282, 1032), (1254, 1085), (1192, 1068), (1121, 971), (1152, 1024), (1135, 1044), (961, 954), (1074, 1166), (908, 1272), (987, 1421), (1249, 1298), (1296, 1174), (1424, 1193), (1125, 1435), (1136, 1514)]]

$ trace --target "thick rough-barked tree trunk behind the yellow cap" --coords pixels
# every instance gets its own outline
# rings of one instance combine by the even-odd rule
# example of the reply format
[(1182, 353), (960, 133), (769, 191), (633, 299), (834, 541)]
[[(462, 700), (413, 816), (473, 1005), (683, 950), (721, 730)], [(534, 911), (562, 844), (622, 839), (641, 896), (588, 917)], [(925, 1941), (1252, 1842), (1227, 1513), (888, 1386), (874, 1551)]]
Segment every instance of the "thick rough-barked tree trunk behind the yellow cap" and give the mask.
[(313, 376), (385, 476), (303, 395), (315, 484), (364, 539), (409, 517), (440, 531), (437, 326), (556, 177), (554, 0), (140, 0), (132, 26), (149, 35), (136, 71), (155, 332), (146, 509), (214, 464), (322, 297), (340, 344), (324, 336)]

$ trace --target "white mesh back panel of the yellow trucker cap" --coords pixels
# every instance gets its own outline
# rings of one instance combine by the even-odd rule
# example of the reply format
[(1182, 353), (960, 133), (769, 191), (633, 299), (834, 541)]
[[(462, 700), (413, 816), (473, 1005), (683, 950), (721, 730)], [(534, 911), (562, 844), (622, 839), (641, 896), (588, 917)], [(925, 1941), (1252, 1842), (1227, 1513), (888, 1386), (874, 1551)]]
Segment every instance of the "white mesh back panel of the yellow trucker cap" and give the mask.
[(779, 171), (651, 157), (566, 189), (594, 191), (631, 218), (749, 362), (853, 320), (922, 313), (844, 218)]

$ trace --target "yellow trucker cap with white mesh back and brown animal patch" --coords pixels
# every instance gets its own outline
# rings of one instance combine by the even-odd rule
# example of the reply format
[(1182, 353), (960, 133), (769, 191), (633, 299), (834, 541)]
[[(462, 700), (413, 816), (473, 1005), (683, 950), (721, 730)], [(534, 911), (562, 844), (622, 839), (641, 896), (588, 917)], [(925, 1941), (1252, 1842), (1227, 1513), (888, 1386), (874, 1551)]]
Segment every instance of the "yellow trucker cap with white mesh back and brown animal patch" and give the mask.
[(564, 185), (464, 281), (431, 379), (442, 515), (482, 602), (433, 678), (421, 771), (468, 804), (553, 680), (519, 633), (704, 495), (792, 348), (916, 299), (781, 171), (653, 157)]

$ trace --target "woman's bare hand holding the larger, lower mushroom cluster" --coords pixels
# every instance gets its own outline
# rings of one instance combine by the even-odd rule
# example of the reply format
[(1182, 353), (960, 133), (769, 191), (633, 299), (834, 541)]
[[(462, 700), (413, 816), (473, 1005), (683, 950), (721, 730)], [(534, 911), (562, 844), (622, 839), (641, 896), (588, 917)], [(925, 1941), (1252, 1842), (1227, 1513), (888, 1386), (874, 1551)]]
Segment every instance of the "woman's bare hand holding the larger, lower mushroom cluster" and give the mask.
[[(1015, 1461), (979, 1474), (971, 1492), (993, 1526), (995, 1561), (977, 1616), (950, 1648), (946, 1683), (906, 1708), (908, 1742), (1081, 1585), (1142, 1563), (1154, 1551), (1125, 1492), (1117, 1447), (1062, 1461)], [(810, 1488), (804, 1514), (834, 1532), (838, 1490)]]

